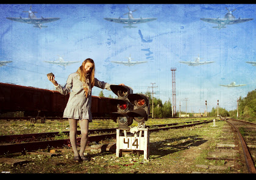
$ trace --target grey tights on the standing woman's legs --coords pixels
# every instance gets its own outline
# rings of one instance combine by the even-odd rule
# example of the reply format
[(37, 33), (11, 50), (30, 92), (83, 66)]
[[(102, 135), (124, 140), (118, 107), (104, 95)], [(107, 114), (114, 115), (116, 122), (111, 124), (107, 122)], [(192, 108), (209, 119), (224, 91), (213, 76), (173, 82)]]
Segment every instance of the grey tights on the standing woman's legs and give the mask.
[[(69, 122), (69, 139), (74, 151), (74, 156), (78, 156), (77, 145), (76, 145), (76, 135), (77, 135), (77, 120), (68, 119)], [(83, 156), (85, 147), (88, 141), (88, 119), (79, 120), (79, 125), (81, 129), (81, 141), (80, 141), (80, 152), (79, 155)]]

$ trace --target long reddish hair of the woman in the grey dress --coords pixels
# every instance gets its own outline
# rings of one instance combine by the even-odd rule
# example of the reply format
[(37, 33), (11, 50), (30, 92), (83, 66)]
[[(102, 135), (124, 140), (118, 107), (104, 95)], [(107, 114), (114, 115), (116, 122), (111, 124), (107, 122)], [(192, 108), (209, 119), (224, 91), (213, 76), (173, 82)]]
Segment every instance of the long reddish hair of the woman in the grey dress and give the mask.
[[(93, 69), (90, 72), (89, 76), (86, 77), (86, 72), (85, 72), (85, 64), (89, 62), (89, 63), (93, 63)], [(94, 86), (94, 72), (95, 72), (95, 64), (94, 61), (91, 58), (87, 58), (86, 60), (84, 60), (84, 62), (82, 63), (82, 65), (77, 69), (77, 74), (80, 75), (80, 81), (82, 81), (83, 83), (85, 83), (85, 80), (87, 78), (89, 78), (89, 81), (91, 83), (91, 88), (93, 88)]]

